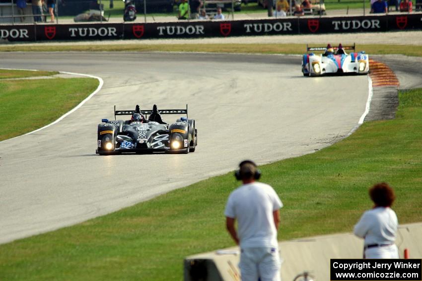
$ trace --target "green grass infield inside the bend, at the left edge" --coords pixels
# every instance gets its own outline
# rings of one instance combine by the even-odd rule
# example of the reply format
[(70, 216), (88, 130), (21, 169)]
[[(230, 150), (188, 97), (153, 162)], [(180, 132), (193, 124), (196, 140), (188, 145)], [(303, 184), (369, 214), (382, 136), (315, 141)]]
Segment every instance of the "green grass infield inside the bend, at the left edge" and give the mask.
[[(38, 72), (27, 72), (16, 75), (39, 75)], [(93, 78), (0, 80), (0, 141), (53, 122), (97, 86), (98, 80)]]

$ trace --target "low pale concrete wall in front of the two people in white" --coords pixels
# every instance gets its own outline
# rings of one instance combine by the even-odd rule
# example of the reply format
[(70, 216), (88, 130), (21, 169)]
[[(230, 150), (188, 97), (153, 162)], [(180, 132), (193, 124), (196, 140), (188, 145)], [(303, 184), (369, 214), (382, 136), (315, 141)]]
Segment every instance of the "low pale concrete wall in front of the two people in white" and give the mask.
[[(228, 235), (228, 234), (227, 234)], [(411, 259), (422, 258), (422, 223), (400, 225), (396, 244), (400, 258), (404, 249), (409, 249)], [(281, 258), (281, 279), (292, 281), (298, 274), (309, 272), (317, 281), (330, 280), (330, 259), (359, 259), (363, 254), (363, 240), (352, 233), (316, 236), (279, 243)], [(185, 259), (185, 281), (193, 281), (190, 272), (196, 267), (206, 274), (204, 280), (240, 280), (239, 248), (189, 256)], [(202, 261), (202, 262), (200, 262)], [(205, 262), (206, 261), (206, 262)], [(214, 271), (218, 271), (216, 274)], [(204, 273), (205, 274), (205, 273)]]

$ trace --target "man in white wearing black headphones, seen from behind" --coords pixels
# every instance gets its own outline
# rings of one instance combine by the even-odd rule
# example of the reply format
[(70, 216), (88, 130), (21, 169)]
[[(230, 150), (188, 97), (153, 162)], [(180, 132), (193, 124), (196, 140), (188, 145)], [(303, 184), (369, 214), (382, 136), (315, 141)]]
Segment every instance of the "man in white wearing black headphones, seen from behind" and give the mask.
[[(277, 230), (280, 208), (276, 191), (268, 184), (257, 182), (261, 172), (250, 160), (239, 164), (235, 172), (242, 185), (234, 190), (224, 211), (227, 231), (240, 246), (242, 281), (280, 281), (280, 254)], [(238, 231), (234, 227), (238, 221)]]

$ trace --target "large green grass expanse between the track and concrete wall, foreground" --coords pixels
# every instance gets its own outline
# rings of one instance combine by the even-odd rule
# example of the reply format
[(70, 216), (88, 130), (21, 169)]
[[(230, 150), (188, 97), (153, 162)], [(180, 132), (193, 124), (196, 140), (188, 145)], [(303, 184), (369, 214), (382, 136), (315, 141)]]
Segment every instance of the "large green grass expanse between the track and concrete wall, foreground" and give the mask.
[[(421, 221), (422, 89), (400, 92), (397, 118), (364, 123), (314, 154), (262, 166), (285, 207), (279, 239), (351, 231), (389, 182), (401, 224)], [(231, 173), (85, 223), (0, 245), (0, 280), (181, 280), (185, 256), (233, 246), (223, 210)]]

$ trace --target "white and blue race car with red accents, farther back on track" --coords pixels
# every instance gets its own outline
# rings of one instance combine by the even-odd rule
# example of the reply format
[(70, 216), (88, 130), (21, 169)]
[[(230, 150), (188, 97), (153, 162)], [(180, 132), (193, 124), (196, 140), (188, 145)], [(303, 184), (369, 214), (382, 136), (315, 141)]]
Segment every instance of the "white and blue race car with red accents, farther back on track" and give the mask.
[[(347, 54), (345, 50), (353, 50)], [(369, 57), (365, 52), (354, 52), (353, 46), (309, 47), (306, 45), (306, 54), (302, 56), (303, 76), (320, 76), (336, 73), (369, 73)], [(314, 51), (324, 51), (323, 54), (314, 54)]]

